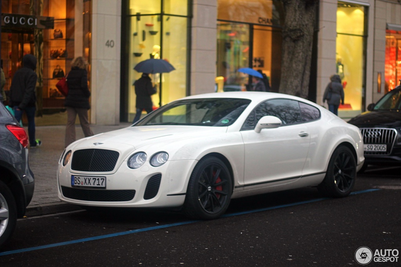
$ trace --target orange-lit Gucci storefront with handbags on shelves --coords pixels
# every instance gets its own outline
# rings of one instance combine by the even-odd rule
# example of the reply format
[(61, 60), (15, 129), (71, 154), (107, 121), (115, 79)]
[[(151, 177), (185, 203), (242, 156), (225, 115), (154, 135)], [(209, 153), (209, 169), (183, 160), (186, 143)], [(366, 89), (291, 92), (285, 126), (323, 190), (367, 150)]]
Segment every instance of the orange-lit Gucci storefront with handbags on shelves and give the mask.
[[(1, 59), (6, 76), (5, 90), (10, 89), (14, 73), (22, 67), (22, 57), (35, 55), (38, 62), (36, 125), (65, 124), (67, 121), (65, 97), (55, 85), (69, 72), (74, 57), (85, 54), (89, 59), (90, 3), (68, 0), (1, 1), (3, 18), (20, 16), (26, 17), (20, 21), (27, 22), (2, 25)], [(84, 14), (87, 18), (77, 17), (77, 14)], [(37, 23), (29, 24), (30, 17), (36, 18)], [(86, 34), (83, 34), (84, 29), (87, 29)], [(89, 36), (86, 41), (85, 36)], [(22, 122), (26, 122), (24, 117)]]

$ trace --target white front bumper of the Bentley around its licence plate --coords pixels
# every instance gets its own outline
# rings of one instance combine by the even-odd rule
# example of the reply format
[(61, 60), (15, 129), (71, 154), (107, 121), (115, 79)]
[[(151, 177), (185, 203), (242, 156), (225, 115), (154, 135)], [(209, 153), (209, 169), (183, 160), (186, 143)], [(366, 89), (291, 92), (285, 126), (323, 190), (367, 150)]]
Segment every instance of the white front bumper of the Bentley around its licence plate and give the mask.
[[(153, 167), (146, 162), (130, 169), (124, 161), (114, 173), (76, 172), (59, 165), (58, 196), (61, 201), (84, 206), (161, 208), (182, 206), (196, 160), (176, 160)], [(106, 177), (106, 188), (71, 186), (71, 175)]]

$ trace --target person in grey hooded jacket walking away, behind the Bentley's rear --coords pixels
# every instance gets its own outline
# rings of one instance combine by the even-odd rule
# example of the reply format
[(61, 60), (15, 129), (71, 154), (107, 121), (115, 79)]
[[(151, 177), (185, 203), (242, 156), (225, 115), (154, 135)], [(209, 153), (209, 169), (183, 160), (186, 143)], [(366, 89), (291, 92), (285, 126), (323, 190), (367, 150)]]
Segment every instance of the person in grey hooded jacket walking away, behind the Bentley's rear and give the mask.
[(327, 100), (328, 110), (338, 115), (338, 106), (340, 102), (344, 105), (344, 89), (342, 88), (341, 78), (339, 75), (332, 75), (330, 83), (326, 86), (323, 94), (323, 103)]

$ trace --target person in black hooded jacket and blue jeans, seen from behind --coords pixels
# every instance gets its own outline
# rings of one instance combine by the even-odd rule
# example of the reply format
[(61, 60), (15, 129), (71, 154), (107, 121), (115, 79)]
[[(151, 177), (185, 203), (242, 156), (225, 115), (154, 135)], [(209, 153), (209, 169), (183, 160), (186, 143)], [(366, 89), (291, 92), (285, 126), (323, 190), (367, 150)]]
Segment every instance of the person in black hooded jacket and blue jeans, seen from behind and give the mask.
[(12, 77), (10, 86), (10, 106), (14, 108), (14, 117), (21, 121), (22, 113), (28, 118), (29, 146), (35, 148), (42, 144), (35, 138), (35, 113), (36, 113), (36, 81), (38, 75), (36, 69), (36, 57), (31, 54), (22, 58), (22, 68), (18, 69)]

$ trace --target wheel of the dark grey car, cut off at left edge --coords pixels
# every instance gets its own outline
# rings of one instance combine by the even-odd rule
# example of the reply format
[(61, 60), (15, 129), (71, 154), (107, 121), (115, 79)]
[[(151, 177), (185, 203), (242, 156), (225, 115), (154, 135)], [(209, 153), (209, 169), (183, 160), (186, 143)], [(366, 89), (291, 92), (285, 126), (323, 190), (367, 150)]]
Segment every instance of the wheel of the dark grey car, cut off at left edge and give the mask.
[(8, 241), (17, 223), (17, 206), (14, 196), (0, 181), (0, 248)]

